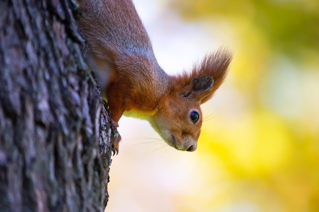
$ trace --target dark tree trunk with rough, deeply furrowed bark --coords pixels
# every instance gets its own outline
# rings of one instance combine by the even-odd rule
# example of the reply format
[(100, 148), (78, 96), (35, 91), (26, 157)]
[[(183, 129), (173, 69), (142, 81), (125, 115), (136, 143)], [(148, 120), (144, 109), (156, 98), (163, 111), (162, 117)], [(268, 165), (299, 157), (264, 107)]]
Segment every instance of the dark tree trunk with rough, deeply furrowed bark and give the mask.
[(103, 211), (110, 118), (72, 0), (0, 0), (0, 208)]

